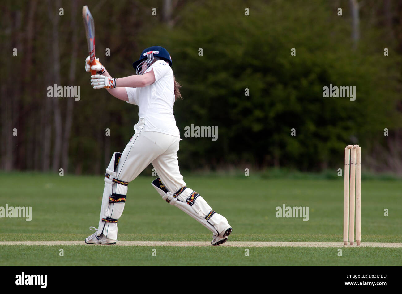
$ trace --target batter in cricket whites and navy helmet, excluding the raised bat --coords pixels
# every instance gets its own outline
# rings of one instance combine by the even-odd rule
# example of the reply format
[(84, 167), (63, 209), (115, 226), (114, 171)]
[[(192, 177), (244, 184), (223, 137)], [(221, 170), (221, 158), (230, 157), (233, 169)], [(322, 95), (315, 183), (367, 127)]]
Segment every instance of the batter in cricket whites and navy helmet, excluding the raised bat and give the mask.
[(89, 62), (87, 57), (86, 71), (98, 73), (91, 76), (94, 89), (105, 88), (116, 98), (138, 105), (139, 120), (123, 153), (115, 152), (106, 168), (99, 225), (97, 229), (90, 227), (96, 233), (87, 237), (85, 243), (116, 243), (117, 221), (123, 213), (127, 185), (150, 163), (158, 174), (152, 186), (162, 199), (207, 227), (213, 233), (211, 245), (225, 243), (232, 232), (228, 220), (215, 213), (201, 195), (186, 187), (179, 171), (180, 134), (173, 104), (181, 95), (168, 51), (160, 46), (145, 49), (133, 63), (137, 75), (119, 79), (111, 77), (99, 59), (96, 65), (90, 66)]

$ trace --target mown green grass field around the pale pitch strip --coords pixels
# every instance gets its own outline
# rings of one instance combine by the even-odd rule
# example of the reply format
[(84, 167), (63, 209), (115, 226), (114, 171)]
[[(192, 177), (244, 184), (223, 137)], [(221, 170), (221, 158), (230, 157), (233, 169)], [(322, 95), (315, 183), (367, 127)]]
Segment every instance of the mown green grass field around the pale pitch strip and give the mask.
[[(84, 240), (97, 226), (103, 177), (1, 172), (0, 206), (31, 206), (32, 220), (0, 218), (0, 241)], [(197, 221), (164, 202), (140, 176), (128, 186), (120, 241), (211, 241)], [(343, 180), (261, 176), (185, 176), (233, 227), (230, 241), (330, 241), (343, 235)], [(402, 182), (363, 179), (364, 242), (402, 242)], [(278, 206), (309, 207), (309, 220), (276, 218)], [(389, 216), (384, 216), (384, 209)], [(59, 249), (64, 256), (59, 256)], [(156, 256), (152, 256), (152, 249)], [(402, 248), (1, 245), (0, 266), (234, 265), (401, 266)]]

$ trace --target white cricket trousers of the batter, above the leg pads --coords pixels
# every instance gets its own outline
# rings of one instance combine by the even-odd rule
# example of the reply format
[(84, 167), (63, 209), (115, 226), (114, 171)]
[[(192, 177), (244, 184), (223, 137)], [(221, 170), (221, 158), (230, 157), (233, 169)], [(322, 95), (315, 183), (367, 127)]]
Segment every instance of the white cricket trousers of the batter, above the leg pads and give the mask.
[(125, 146), (117, 166), (117, 178), (131, 182), (152, 163), (166, 188), (169, 191), (177, 191), (186, 185), (177, 160), (180, 138), (145, 131), (144, 121), (140, 119), (134, 126), (135, 134)]

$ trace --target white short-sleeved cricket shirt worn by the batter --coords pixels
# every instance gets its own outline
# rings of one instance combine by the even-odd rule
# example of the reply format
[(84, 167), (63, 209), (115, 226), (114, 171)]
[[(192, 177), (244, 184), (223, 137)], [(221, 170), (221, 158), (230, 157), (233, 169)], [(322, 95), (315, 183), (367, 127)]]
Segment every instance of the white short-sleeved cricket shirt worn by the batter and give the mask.
[(130, 88), (127, 103), (138, 105), (139, 120), (144, 118), (145, 131), (160, 132), (180, 137), (173, 115), (173, 71), (166, 61), (158, 60), (147, 70), (154, 69), (155, 82), (146, 87)]

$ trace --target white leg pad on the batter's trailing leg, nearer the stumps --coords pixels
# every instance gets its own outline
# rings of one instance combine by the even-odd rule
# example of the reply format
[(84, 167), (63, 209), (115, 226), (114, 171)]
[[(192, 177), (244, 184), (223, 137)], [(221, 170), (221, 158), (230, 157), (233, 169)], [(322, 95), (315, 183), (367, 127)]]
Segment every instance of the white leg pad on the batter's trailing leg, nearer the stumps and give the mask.
[(209, 229), (213, 235), (219, 235), (228, 227), (228, 220), (219, 213), (215, 213), (203, 197), (188, 187), (182, 187), (173, 194), (163, 186), (159, 178), (152, 182), (152, 186), (154, 186), (159, 195), (162, 196), (162, 199), (199, 221)]

